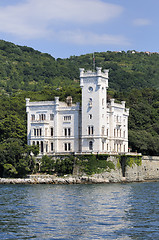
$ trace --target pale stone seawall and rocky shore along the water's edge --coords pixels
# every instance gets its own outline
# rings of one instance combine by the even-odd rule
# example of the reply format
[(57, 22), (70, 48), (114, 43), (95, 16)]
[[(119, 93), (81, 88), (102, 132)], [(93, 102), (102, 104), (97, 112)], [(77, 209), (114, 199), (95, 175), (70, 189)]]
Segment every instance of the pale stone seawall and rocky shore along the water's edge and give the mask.
[(119, 156), (109, 156), (115, 169), (87, 176), (76, 167), (73, 175), (29, 175), (27, 178), (0, 178), (0, 184), (91, 184), (159, 181), (159, 157), (143, 156), (141, 165), (127, 165)]

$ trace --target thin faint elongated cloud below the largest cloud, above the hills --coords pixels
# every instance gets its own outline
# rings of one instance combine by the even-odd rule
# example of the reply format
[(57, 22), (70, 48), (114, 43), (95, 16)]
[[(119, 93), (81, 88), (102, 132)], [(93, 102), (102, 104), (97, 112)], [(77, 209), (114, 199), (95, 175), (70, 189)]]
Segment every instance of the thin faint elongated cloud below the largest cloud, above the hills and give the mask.
[(62, 42), (78, 45), (130, 45), (129, 41), (122, 35), (96, 34), (82, 31), (61, 31), (57, 34)]

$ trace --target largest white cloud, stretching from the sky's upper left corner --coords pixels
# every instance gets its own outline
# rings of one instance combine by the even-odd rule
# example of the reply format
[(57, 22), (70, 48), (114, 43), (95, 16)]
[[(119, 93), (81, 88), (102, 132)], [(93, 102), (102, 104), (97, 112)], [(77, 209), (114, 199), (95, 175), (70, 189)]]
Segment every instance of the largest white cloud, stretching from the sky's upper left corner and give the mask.
[(122, 7), (102, 0), (26, 0), (0, 7), (0, 32), (22, 39), (46, 38), (57, 30), (62, 32), (64, 25), (72, 29), (72, 25), (82, 28), (105, 23), (122, 11)]

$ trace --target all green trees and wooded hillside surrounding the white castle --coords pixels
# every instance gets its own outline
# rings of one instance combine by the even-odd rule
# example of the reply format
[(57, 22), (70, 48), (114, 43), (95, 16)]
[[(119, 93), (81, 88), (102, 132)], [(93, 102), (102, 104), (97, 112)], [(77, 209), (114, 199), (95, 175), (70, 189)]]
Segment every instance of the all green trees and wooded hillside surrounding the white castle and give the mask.
[[(95, 61), (96, 66), (110, 70), (108, 100), (125, 100), (130, 108), (132, 151), (159, 155), (159, 54), (102, 52), (95, 53)], [(25, 98), (65, 100), (72, 95), (74, 102), (81, 101), (80, 67), (92, 69), (92, 54), (55, 59), (0, 41), (0, 175), (19, 176), (34, 169), (26, 146)], [(57, 163), (63, 173), (71, 172)]]

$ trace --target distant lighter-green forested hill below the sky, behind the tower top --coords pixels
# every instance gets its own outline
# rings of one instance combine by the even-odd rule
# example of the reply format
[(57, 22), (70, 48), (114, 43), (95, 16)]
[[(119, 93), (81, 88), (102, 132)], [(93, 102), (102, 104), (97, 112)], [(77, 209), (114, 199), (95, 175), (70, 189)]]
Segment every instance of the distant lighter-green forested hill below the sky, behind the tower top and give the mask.
[[(95, 53), (96, 66), (109, 69), (109, 87), (118, 91), (159, 88), (159, 54)], [(92, 69), (92, 54), (55, 59), (26, 46), (0, 41), (0, 92), (79, 86), (79, 68)]]

